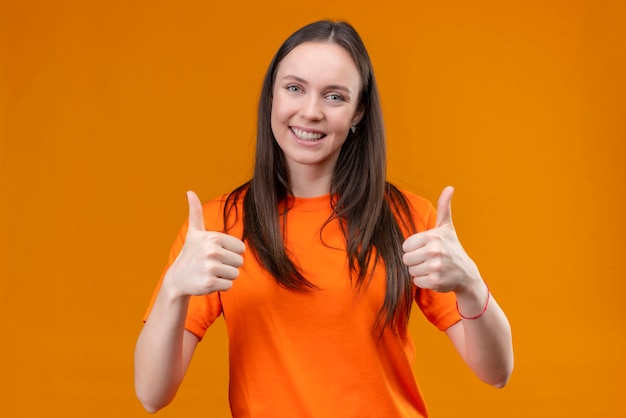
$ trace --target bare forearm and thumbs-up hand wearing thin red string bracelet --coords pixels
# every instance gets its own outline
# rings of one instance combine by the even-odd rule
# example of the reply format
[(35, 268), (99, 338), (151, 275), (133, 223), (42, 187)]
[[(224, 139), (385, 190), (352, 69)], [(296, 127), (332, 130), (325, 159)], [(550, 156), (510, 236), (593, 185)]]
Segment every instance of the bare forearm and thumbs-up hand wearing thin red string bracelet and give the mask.
[(450, 210), (453, 192), (448, 187), (441, 193), (436, 227), (404, 242), (403, 261), (416, 286), (455, 292), (461, 315), (476, 317), (462, 319), (446, 333), (480, 379), (503, 387), (513, 371), (511, 328), (493, 296), (487, 299), (487, 286), (457, 238)]

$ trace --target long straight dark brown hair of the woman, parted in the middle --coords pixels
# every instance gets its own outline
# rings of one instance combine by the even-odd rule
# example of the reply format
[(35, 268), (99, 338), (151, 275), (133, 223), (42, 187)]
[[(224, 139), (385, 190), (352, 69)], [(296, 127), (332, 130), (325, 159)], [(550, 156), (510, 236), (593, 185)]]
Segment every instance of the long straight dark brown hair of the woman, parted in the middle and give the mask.
[[(289, 171), (270, 125), (272, 92), (283, 58), (304, 42), (333, 42), (353, 57), (361, 76), (359, 107), (364, 110), (356, 131), (348, 134), (331, 181), (331, 221), (338, 220), (346, 241), (355, 291), (369, 283), (368, 271), (382, 260), (386, 293), (377, 326), (406, 329), (412, 304), (412, 284), (402, 263), (405, 232), (415, 231), (404, 195), (386, 181), (386, 139), (378, 88), (365, 45), (345, 22), (318, 21), (293, 33), (278, 49), (265, 74), (258, 106), (257, 142), (252, 179), (235, 189), (224, 207), (224, 222), (237, 213), (243, 197), (243, 239), (276, 281), (294, 291), (316, 287), (302, 275), (284, 246), (284, 215), (289, 210)], [(279, 208), (286, 210), (279, 213)], [(232, 220), (232, 218), (230, 218)], [(228, 228), (226, 226), (226, 228)], [(382, 329), (381, 328), (381, 331)]]

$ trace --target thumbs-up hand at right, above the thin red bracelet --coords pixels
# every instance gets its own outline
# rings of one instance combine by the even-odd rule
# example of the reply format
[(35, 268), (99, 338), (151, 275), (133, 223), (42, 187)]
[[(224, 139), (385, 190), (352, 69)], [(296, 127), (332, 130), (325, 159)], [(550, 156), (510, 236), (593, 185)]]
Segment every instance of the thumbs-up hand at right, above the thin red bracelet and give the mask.
[(458, 292), (482, 280), (456, 235), (451, 212), (453, 194), (450, 186), (441, 192), (435, 228), (410, 236), (402, 245), (402, 261), (417, 287)]

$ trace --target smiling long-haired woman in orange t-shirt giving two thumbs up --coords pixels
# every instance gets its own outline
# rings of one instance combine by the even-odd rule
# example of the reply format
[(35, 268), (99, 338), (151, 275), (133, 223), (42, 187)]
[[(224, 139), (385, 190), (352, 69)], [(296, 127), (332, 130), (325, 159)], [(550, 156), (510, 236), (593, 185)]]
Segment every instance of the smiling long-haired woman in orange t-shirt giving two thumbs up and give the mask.
[[(354, 29), (290, 36), (263, 82), (252, 179), (175, 241), (135, 351), (144, 407), (169, 402), (219, 316), (233, 417), (424, 417), (413, 301), (485, 382), (513, 367), (508, 321), (452, 225), (385, 179), (376, 81)], [(235, 280), (236, 279), (236, 280)]]

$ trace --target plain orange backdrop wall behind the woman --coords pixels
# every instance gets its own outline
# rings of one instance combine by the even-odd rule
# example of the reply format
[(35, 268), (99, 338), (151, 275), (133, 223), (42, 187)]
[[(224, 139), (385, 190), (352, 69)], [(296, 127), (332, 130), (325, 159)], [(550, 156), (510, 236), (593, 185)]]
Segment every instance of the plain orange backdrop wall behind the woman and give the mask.
[[(0, 415), (146, 415), (134, 343), (184, 193), (248, 178), (270, 58), (331, 17), (374, 61), (390, 179), (456, 186), (512, 324), (496, 390), (415, 316), (432, 415), (626, 416), (624, 2), (268, 3), (1, 1)], [(159, 416), (228, 415), (220, 321)]]

